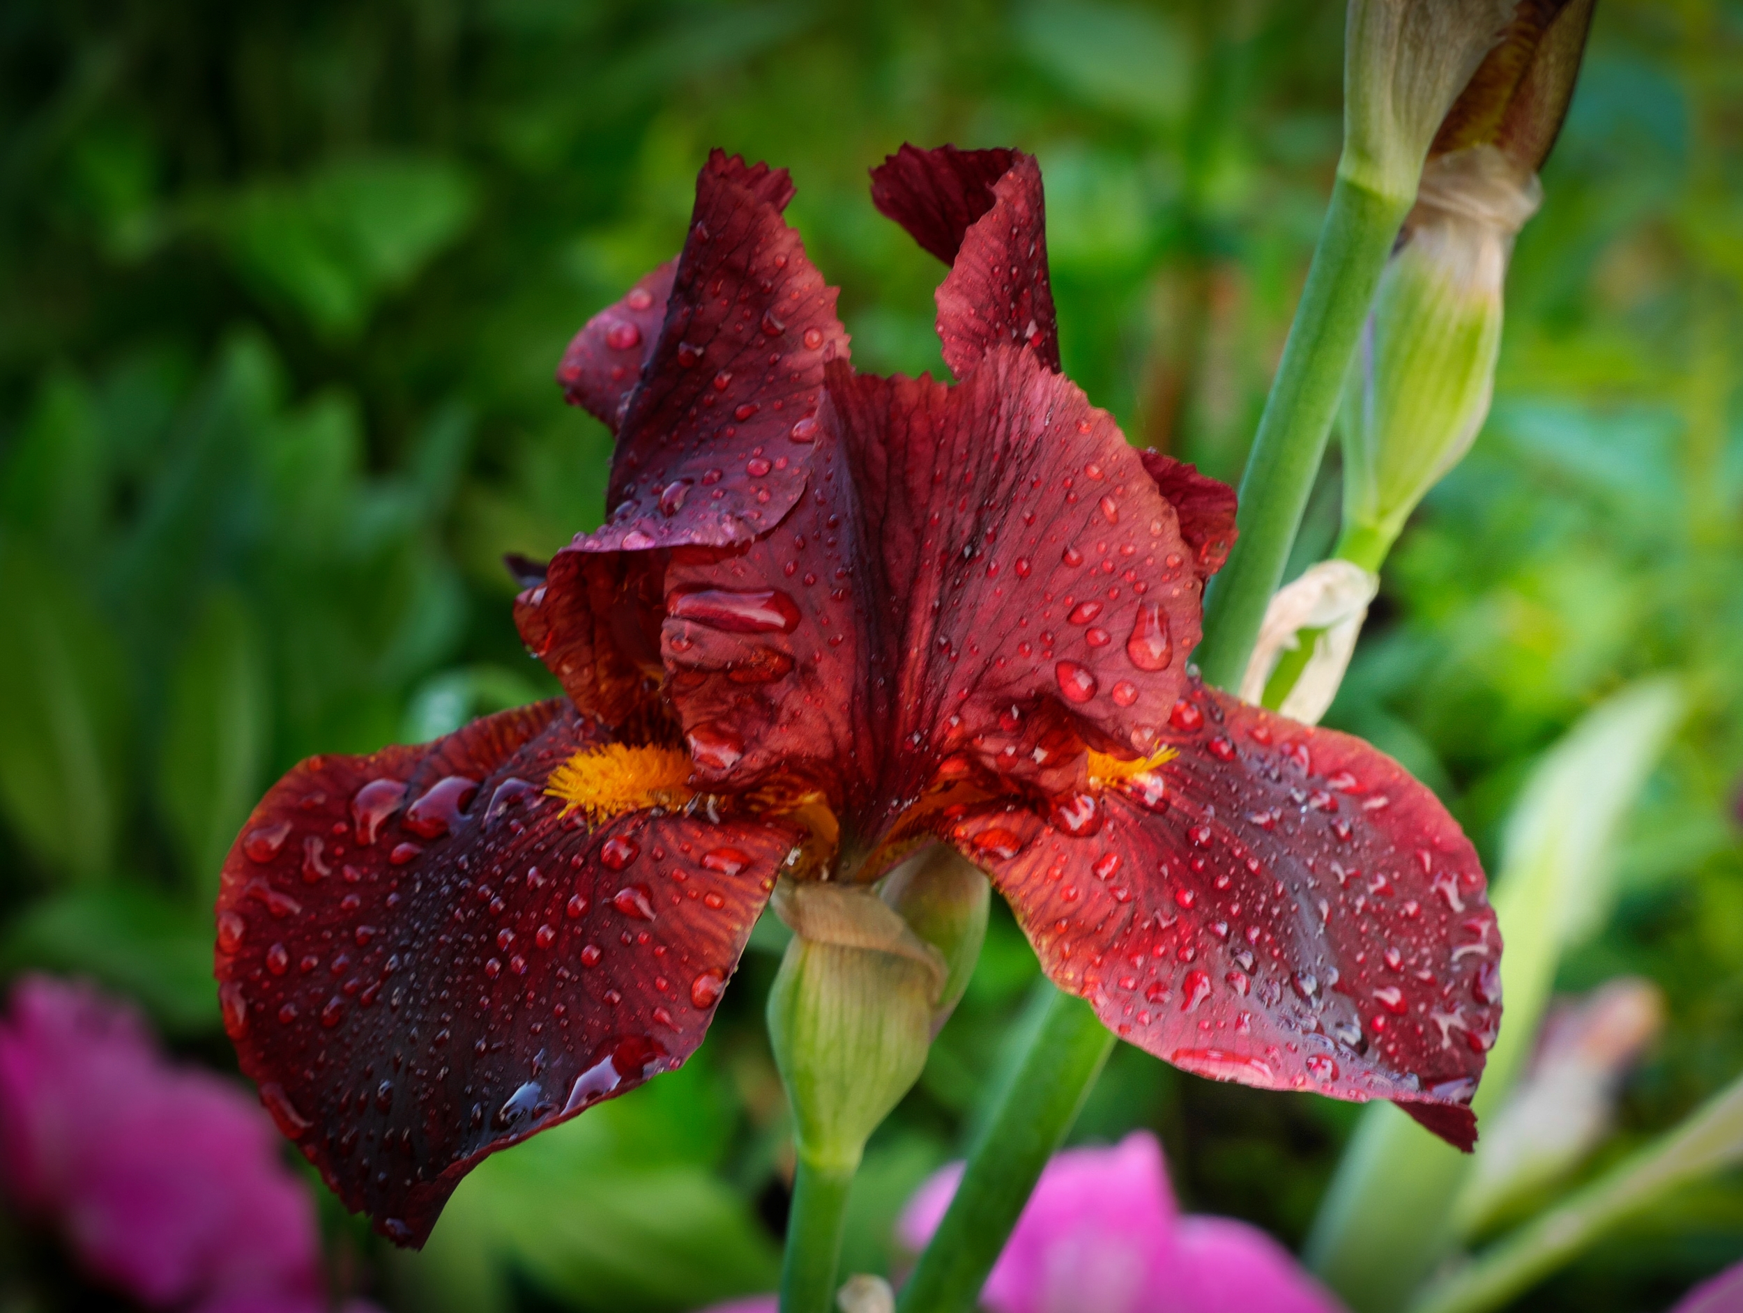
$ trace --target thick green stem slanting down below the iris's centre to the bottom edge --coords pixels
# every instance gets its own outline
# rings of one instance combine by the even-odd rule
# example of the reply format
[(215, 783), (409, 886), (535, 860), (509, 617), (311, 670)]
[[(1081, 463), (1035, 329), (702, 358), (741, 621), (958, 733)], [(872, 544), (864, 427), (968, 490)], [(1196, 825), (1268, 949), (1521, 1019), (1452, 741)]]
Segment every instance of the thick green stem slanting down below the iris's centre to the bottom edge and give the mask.
[(938, 1233), (901, 1290), (898, 1313), (974, 1308), (1041, 1168), (1065, 1142), (1112, 1052), (1114, 1034), (1089, 1005), (1053, 989), (1034, 1038), (969, 1149), (962, 1184)]

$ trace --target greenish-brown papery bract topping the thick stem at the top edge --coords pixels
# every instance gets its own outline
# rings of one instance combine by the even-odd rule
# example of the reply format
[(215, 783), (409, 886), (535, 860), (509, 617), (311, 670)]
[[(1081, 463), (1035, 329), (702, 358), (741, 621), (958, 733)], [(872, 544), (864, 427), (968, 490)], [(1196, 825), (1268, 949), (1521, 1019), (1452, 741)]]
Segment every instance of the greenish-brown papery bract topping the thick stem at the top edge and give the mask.
[(1339, 174), (1408, 199), (1447, 111), (1513, 12), (1511, 0), (1351, 0)]

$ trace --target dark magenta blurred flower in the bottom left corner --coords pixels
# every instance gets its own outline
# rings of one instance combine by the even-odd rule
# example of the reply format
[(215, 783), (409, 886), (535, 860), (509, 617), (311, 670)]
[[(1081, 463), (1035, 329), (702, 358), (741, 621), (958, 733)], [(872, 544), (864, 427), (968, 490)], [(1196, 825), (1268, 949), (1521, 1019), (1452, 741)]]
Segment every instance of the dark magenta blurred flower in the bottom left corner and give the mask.
[(148, 1308), (324, 1310), (312, 1202), (279, 1146), (235, 1085), (166, 1062), (132, 1008), (45, 977), (14, 987), (0, 1186), (94, 1280)]

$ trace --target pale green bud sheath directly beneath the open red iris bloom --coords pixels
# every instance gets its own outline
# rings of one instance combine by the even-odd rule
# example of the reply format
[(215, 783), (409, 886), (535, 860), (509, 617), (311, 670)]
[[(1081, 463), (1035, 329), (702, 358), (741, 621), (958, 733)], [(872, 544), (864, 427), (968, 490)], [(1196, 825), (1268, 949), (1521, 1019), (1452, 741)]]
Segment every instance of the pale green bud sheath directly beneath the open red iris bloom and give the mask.
[(973, 972), (988, 897), (987, 878), (939, 848), (908, 858), (878, 892), (777, 886), (793, 939), (769, 993), (769, 1038), (807, 1163), (854, 1168), (919, 1080)]

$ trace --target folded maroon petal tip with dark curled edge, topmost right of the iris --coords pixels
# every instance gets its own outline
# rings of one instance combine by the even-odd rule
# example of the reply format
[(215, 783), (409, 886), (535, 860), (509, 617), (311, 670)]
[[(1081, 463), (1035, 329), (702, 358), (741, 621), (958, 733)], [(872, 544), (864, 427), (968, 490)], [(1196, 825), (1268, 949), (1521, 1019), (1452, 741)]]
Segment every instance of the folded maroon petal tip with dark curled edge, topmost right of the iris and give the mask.
[(1041, 167), (1016, 150), (903, 146), (872, 171), (872, 200), (950, 265), (938, 287), (945, 364), (962, 378), (994, 343), (1060, 367)]

